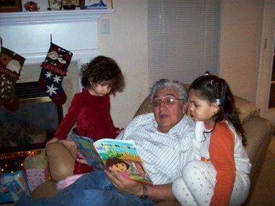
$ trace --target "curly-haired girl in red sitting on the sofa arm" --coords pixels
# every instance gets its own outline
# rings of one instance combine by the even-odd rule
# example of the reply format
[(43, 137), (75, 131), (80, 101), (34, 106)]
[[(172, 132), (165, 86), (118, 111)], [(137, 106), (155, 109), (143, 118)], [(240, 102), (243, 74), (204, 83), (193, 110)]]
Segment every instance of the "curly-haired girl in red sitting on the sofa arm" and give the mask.
[[(67, 115), (47, 144), (62, 140), (69, 147), (67, 138), (69, 130), (76, 123), (78, 135), (91, 137), (94, 141), (113, 138), (120, 133), (120, 128), (113, 125), (110, 110), (110, 95), (122, 92), (125, 87), (124, 76), (115, 60), (106, 56), (97, 56), (83, 65), (81, 83), (83, 91), (76, 93)], [(74, 143), (72, 143), (74, 144)], [(72, 151), (71, 151), (72, 152)], [(76, 154), (72, 154), (76, 157)], [(74, 174), (91, 172), (91, 165), (75, 161)]]

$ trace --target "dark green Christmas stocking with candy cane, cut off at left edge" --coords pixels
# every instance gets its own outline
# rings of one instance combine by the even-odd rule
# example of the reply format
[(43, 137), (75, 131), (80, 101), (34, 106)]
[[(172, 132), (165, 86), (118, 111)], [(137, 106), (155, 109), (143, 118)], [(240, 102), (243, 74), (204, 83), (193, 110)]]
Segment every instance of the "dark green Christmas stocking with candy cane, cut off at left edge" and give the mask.
[(21, 69), (25, 58), (12, 52), (10, 49), (1, 47), (0, 52), (0, 104), (6, 109), (16, 111), (19, 108), (19, 101), (15, 95), (14, 87), (19, 80)]

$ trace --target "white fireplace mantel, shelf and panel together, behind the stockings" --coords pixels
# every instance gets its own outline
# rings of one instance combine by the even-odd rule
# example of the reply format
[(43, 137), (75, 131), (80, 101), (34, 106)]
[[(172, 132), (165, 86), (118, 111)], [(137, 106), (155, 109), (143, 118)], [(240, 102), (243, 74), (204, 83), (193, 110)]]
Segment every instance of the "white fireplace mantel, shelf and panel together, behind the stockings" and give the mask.
[(52, 43), (72, 52), (79, 65), (100, 54), (98, 19), (115, 10), (61, 10), (0, 13), (0, 36), (6, 47), (25, 60), (25, 65), (45, 60)]

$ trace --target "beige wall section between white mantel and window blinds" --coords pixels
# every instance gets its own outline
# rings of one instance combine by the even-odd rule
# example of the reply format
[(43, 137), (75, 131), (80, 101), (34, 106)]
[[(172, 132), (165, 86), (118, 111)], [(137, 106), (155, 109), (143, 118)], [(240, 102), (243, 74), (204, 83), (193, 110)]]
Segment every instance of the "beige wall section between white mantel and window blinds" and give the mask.
[(115, 126), (125, 127), (148, 95), (147, 1), (113, 0), (113, 8), (101, 18), (110, 19), (111, 32), (98, 39), (101, 53), (114, 58), (126, 77), (125, 91), (111, 98)]

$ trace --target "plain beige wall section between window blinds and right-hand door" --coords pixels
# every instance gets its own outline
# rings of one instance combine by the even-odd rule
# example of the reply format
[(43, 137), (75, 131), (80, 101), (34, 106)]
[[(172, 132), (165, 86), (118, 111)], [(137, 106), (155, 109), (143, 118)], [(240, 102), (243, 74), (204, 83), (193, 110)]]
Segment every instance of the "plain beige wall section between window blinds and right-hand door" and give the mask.
[(219, 76), (232, 92), (255, 103), (263, 0), (221, 1)]

